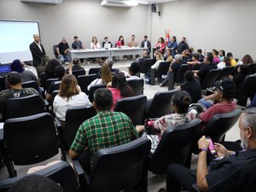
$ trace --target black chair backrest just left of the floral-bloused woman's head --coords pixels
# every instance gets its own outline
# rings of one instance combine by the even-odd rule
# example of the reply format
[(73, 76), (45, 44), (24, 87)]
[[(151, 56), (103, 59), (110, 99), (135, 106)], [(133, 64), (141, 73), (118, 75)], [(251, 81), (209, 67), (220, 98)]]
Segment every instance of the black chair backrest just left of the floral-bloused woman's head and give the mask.
[(146, 118), (160, 118), (166, 114), (172, 113), (171, 101), (172, 95), (177, 90), (168, 90), (157, 92), (148, 108)]

